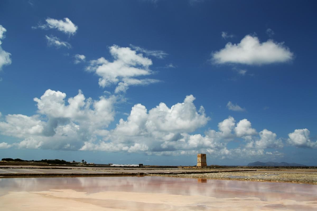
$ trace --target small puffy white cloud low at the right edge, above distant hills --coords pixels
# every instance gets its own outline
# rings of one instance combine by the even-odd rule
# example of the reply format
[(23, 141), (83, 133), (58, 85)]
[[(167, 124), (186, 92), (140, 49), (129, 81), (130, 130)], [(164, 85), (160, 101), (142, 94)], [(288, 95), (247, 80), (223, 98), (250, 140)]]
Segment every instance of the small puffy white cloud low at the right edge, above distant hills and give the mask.
[(317, 141), (313, 142), (309, 139), (309, 130), (297, 129), (293, 133), (288, 133), (288, 144), (297, 147), (317, 148)]

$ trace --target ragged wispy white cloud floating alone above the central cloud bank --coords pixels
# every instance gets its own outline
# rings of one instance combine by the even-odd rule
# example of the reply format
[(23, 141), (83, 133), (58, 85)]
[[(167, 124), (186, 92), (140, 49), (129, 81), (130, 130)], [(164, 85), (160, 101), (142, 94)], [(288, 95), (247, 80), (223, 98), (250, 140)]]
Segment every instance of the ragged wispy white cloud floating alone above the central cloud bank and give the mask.
[(101, 57), (91, 60), (86, 67), (86, 71), (95, 72), (99, 78), (101, 87), (117, 84), (115, 93), (125, 92), (131, 85), (146, 85), (159, 82), (155, 79), (138, 79), (135, 77), (152, 74), (149, 66), (152, 60), (144, 57), (142, 53), (137, 53), (129, 47), (119, 47), (113, 45), (109, 48), (113, 57), (113, 62)]

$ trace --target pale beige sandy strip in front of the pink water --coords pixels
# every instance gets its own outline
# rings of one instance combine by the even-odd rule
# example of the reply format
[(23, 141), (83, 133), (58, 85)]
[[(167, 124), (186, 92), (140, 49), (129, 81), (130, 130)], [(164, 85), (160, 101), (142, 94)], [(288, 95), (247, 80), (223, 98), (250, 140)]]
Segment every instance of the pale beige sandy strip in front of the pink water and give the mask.
[(316, 201), (273, 200), (256, 197), (215, 198), (106, 191), (94, 194), (70, 189), (10, 192), (0, 197), (3, 210), (316, 210)]

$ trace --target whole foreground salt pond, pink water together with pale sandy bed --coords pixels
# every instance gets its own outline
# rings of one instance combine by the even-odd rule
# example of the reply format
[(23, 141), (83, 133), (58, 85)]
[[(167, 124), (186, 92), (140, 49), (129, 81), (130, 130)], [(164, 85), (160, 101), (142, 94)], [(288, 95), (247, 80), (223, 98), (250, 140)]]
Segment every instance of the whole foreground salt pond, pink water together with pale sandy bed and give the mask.
[(317, 186), (172, 177), (0, 179), (2, 210), (317, 210)]

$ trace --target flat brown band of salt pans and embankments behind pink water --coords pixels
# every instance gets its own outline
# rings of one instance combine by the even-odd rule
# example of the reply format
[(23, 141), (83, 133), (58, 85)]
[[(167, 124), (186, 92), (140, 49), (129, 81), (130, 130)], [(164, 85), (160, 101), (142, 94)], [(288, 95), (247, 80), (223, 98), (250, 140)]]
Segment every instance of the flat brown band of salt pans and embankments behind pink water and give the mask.
[(317, 168), (126, 168), (88, 166), (0, 166), (5, 177), (164, 176), (317, 184)]

